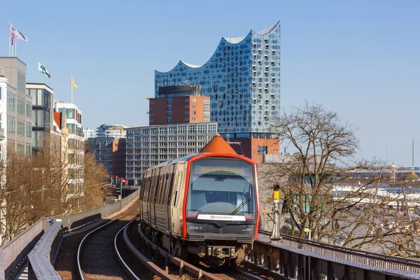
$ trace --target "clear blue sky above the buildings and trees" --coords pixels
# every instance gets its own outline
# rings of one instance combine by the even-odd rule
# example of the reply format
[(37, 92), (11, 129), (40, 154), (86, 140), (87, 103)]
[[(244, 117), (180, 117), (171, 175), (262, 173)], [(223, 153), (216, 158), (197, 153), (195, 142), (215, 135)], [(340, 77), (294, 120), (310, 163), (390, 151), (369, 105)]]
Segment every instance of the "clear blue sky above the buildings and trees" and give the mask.
[(361, 156), (420, 165), (420, 1), (4, 1), (27, 81), (42, 61), (55, 99), (73, 101), (83, 125), (148, 125), (154, 70), (204, 64), (222, 36), (281, 20), (281, 106), (324, 104), (358, 127)]

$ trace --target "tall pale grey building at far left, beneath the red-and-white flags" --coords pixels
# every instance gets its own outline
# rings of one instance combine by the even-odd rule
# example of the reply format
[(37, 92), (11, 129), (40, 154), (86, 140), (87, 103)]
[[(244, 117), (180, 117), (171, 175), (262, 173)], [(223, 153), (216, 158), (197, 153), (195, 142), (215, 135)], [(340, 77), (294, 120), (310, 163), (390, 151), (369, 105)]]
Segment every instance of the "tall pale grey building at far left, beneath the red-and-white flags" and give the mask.
[[(0, 68), (7, 78), (6, 115), (1, 115), (1, 123), (6, 125), (8, 151), (32, 153), (32, 99), (26, 94), (26, 64), (18, 57), (0, 57)], [(1, 109), (3, 110), (3, 109)]]

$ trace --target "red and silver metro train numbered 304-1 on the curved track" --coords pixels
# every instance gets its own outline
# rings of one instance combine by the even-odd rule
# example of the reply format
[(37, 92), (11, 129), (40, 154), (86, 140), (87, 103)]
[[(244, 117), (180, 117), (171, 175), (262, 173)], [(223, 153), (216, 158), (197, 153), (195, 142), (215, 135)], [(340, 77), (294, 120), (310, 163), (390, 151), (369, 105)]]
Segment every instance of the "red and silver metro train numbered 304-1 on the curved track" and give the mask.
[(236, 265), (258, 236), (257, 165), (226, 153), (164, 162), (145, 172), (140, 204), (144, 232), (170, 253)]

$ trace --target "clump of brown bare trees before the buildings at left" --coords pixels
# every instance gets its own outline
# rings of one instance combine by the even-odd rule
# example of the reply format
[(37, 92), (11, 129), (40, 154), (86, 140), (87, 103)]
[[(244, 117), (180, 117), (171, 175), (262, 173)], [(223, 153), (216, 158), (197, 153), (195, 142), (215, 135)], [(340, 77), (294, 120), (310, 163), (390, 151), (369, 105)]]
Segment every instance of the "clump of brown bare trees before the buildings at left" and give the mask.
[(108, 177), (105, 167), (85, 153), (84, 142), (63, 145), (58, 137), (45, 139), (45, 148), (31, 158), (9, 151), (0, 174), (6, 176), (6, 183), (0, 186), (3, 242), (43, 216), (102, 205), (110, 192), (104, 187)]

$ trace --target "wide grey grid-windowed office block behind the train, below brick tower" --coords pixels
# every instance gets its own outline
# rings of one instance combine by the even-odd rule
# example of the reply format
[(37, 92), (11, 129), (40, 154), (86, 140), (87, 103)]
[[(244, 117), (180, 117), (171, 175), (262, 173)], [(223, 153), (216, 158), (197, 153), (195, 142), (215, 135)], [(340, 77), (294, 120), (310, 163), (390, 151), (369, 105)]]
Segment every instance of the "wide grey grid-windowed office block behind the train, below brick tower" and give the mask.
[(214, 137), (218, 123), (177, 123), (127, 128), (126, 176), (129, 185), (139, 185), (150, 167), (199, 153)]

